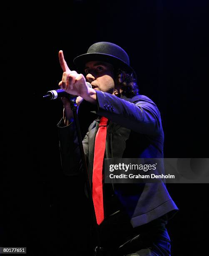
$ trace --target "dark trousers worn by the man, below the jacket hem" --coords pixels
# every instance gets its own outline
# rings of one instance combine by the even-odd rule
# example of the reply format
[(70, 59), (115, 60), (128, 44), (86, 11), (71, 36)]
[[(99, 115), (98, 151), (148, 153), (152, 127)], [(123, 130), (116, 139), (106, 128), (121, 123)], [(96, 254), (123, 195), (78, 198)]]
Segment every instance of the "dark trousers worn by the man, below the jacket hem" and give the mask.
[(137, 228), (124, 218), (104, 222), (100, 238), (104, 256), (170, 255), (170, 238), (165, 223), (159, 219)]

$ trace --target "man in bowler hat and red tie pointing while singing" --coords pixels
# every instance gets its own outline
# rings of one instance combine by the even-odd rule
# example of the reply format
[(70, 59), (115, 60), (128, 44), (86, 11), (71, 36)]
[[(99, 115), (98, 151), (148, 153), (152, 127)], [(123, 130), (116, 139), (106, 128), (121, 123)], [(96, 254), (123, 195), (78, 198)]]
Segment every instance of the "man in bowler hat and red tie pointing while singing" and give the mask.
[[(62, 51), (59, 57), (63, 70), (59, 86), (78, 95), (77, 105), (86, 100), (96, 108), (97, 119), (83, 147), (104, 255), (170, 255), (165, 224), (178, 208), (164, 183), (112, 186), (97, 176), (98, 169), (104, 172), (102, 165), (96, 166), (97, 158), (100, 162), (103, 158), (163, 158), (160, 113), (152, 100), (139, 95), (129, 56), (115, 44), (95, 43), (87, 54), (74, 59), (77, 71), (85, 76), (68, 68)], [(58, 124), (62, 167), (67, 175), (76, 176), (82, 174), (82, 164), (75, 124), (70, 101), (62, 98), (62, 102), (64, 114)], [(100, 127), (107, 127), (103, 146), (102, 138), (97, 144)]]

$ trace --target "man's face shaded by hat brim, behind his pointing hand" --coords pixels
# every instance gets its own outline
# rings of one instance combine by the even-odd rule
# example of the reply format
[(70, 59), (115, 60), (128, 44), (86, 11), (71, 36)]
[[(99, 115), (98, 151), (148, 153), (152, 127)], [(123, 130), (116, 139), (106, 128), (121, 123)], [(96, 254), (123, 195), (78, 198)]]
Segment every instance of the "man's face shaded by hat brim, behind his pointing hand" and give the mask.
[(114, 91), (114, 71), (112, 64), (104, 61), (89, 61), (85, 65), (86, 80), (92, 84), (94, 90)]

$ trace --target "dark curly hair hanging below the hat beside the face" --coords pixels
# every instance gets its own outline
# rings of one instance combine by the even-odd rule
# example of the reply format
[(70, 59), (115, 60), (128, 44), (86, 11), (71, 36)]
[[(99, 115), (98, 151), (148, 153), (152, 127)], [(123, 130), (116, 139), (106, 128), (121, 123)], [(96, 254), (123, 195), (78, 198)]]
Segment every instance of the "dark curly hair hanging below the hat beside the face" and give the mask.
[(127, 73), (122, 69), (115, 70), (116, 83), (120, 85), (123, 90), (123, 94), (126, 97), (133, 97), (139, 95), (139, 87), (137, 79), (134, 78), (133, 74)]

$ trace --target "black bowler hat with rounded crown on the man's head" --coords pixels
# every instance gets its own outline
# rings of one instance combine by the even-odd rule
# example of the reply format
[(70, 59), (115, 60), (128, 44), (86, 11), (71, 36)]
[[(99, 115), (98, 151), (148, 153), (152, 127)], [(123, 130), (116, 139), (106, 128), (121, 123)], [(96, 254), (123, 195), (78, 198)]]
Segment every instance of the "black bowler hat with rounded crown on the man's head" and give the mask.
[(114, 67), (124, 69), (130, 74), (134, 74), (137, 78), (134, 69), (129, 66), (128, 54), (118, 45), (109, 42), (98, 42), (92, 44), (86, 54), (77, 56), (73, 62), (79, 72), (83, 72), (85, 64), (88, 61), (105, 61), (112, 64)]

